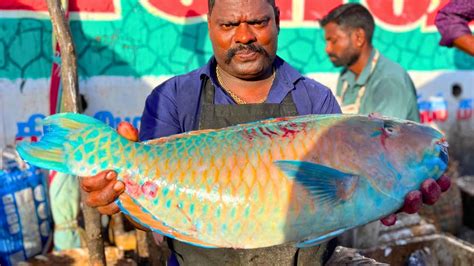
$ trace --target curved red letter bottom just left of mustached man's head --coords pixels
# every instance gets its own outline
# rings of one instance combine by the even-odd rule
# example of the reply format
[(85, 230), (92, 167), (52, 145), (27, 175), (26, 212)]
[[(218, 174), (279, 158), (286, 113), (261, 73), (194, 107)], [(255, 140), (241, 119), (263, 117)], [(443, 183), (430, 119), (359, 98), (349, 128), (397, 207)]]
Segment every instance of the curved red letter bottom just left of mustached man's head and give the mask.
[(207, 0), (148, 0), (145, 2), (165, 14), (179, 18), (200, 17), (207, 14)]

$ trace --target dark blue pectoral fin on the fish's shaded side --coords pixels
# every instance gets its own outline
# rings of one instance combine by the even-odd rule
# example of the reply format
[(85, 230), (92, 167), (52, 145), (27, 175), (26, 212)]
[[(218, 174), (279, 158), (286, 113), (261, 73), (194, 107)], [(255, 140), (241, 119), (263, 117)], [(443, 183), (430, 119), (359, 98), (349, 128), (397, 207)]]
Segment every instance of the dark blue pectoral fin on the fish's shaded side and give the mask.
[(354, 194), (358, 175), (343, 173), (331, 167), (304, 161), (275, 161), (289, 178), (305, 187), (320, 203), (336, 204)]

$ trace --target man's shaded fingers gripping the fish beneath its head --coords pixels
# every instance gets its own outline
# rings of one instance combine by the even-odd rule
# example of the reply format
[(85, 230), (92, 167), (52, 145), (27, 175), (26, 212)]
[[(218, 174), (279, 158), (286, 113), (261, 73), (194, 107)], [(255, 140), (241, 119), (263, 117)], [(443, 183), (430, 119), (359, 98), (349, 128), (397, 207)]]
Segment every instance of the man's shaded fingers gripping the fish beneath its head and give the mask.
[[(425, 180), (421, 184), (420, 190), (414, 190), (407, 194), (400, 212), (413, 214), (420, 210), (423, 203), (433, 205), (440, 198), (441, 193), (447, 191), (450, 186), (451, 180), (446, 175), (441, 176), (437, 181), (434, 179)], [(397, 215), (391, 214), (380, 221), (386, 226), (394, 225)]]

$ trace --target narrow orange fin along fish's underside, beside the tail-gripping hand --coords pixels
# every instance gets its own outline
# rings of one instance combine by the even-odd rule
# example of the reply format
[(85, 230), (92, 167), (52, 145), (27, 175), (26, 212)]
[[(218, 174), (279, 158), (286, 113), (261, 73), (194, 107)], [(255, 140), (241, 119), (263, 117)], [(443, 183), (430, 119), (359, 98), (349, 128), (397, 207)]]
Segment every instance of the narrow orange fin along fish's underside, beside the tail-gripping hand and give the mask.
[(205, 243), (193, 236), (180, 233), (170, 226), (165, 225), (146, 209), (138, 205), (136, 201), (126, 193), (122, 193), (122, 195), (120, 195), (117, 204), (124, 214), (130, 216), (135, 222), (146, 228), (149, 228), (155, 233), (175, 238), (198, 247), (217, 248), (215, 245)]

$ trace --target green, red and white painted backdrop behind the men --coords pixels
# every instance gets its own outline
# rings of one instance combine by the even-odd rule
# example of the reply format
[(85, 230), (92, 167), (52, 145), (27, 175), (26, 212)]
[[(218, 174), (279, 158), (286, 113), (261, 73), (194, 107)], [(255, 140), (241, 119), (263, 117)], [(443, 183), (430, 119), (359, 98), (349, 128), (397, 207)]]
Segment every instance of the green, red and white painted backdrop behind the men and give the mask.
[[(277, 0), (278, 54), (302, 73), (335, 88), (340, 69), (324, 48), (317, 20), (332, 8), (360, 2), (374, 15), (374, 46), (407, 69), (424, 123), (474, 132), (474, 57), (439, 46), (434, 26), (448, 0)], [(170, 76), (212, 55), (207, 0), (70, 0), (70, 25), (86, 113), (112, 126), (139, 125), (146, 96)], [(49, 114), (53, 55), (45, 0), (0, 1), (0, 146), (40, 134)], [(453, 96), (454, 88), (461, 93)], [(461, 123), (461, 126), (459, 124)], [(459, 130), (458, 130), (459, 131)], [(464, 134), (463, 133), (463, 134)]]

